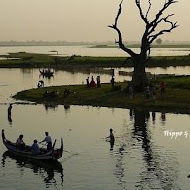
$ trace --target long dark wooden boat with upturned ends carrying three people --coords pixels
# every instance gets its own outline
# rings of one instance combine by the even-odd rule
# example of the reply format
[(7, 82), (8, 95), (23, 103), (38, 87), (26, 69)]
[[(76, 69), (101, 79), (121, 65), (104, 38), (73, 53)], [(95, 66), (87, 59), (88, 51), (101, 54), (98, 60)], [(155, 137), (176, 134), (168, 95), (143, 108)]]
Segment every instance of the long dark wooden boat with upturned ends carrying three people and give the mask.
[(16, 144), (7, 140), (5, 137), (4, 129), (2, 130), (2, 140), (5, 147), (14, 155), (35, 159), (35, 160), (58, 160), (62, 157), (63, 154), (63, 139), (61, 138), (61, 148), (56, 149), (55, 144), (56, 140), (52, 146), (52, 149), (47, 151), (45, 148), (40, 148), (40, 153), (37, 155), (32, 154), (30, 146), (25, 146), (24, 149), (16, 147)]

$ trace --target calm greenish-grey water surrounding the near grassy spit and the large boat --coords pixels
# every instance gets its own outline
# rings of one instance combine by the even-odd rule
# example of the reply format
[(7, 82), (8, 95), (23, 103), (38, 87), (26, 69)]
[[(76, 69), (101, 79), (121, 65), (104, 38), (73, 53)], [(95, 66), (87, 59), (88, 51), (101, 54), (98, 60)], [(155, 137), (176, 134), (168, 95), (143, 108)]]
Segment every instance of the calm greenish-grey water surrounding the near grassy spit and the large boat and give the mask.
[[(116, 70), (117, 71), (117, 70)], [(189, 72), (189, 67), (154, 69), (155, 73)], [(116, 72), (117, 73), (117, 72)], [(89, 75), (57, 71), (44, 79), (45, 85), (81, 84)], [(101, 75), (108, 82), (110, 75)], [(126, 77), (116, 74), (117, 80)], [(37, 86), (37, 69), (0, 69), (0, 128), (8, 139), (19, 134), (31, 144), (42, 140), (49, 131), (53, 140), (64, 137), (63, 158), (59, 165), (31, 163), (6, 155), (0, 143), (0, 189), (69, 189), (69, 190), (188, 190), (190, 179), (190, 116), (152, 113), (128, 109), (88, 106), (45, 107), (14, 104), (12, 121), (7, 117), (10, 98), (17, 91)], [(116, 137), (110, 152), (105, 137), (113, 128)], [(182, 132), (171, 138), (164, 132)]]

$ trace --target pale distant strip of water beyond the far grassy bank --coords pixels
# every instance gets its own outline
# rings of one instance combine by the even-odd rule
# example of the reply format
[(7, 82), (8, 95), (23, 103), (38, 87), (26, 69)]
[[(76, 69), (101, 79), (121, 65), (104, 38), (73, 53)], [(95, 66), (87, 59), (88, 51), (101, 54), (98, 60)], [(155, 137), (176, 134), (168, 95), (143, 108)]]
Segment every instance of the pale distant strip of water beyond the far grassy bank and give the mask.
[[(126, 56), (126, 53), (119, 48), (89, 48), (91, 46), (15, 46), (15, 47), (0, 47), (0, 54), (10, 52), (25, 51), (30, 53), (45, 53), (50, 51), (58, 51), (59, 55), (71, 56), (73, 54), (81, 56)], [(139, 48), (133, 49), (136, 53)], [(151, 56), (175, 56), (189, 55), (190, 48), (155, 48), (151, 51)], [(56, 54), (56, 53), (52, 53)]]

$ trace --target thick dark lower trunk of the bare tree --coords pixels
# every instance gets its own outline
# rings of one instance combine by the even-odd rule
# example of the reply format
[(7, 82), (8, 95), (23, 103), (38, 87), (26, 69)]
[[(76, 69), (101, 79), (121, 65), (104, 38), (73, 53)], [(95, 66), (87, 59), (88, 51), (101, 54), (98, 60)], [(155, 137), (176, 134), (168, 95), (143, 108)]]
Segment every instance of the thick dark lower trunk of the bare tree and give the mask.
[(144, 91), (145, 86), (148, 85), (148, 78), (145, 72), (145, 63), (138, 62), (134, 64), (131, 83), (136, 92)]

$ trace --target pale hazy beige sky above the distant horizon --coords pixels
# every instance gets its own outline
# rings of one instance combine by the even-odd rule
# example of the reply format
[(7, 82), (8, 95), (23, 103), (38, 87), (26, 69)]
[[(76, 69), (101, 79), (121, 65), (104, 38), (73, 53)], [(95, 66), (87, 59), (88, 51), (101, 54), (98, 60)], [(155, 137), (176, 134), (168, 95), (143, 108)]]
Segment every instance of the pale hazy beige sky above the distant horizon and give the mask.
[[(124, 40), (137, 41), (143, 32), (143, 22), (135, 0), (124, 0), (119, 25)], [(146, 2), (148, 0), (142, 0)], [(155, 3), (152, 13), (165, 0)], [(0, 0), (0, 41), (63, 40), (115, 41), (117, 34), (107, 26), (113, 24), (119, 0)], [(179, 0), (168, 9), (175, 13), (179, 27), (163, 40), (190, 41), (189, 0)]]

